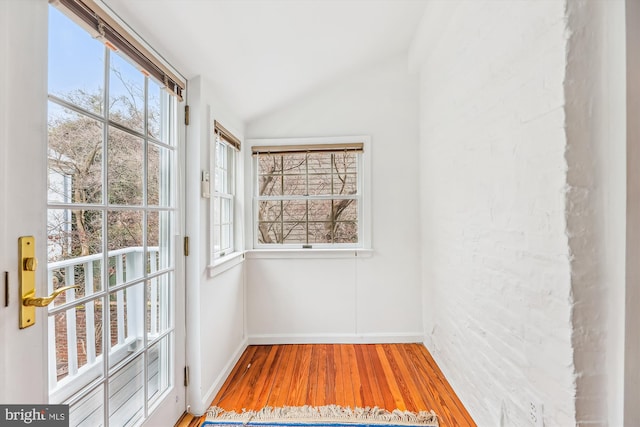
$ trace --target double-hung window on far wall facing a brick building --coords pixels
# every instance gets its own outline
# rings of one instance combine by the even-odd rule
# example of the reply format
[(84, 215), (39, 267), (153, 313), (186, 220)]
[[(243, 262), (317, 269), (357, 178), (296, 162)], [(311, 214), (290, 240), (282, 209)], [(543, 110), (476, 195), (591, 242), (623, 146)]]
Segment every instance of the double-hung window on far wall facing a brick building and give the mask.
[(254, 145), (254, 247), (365, 247), (364, 149), (344, 138)]

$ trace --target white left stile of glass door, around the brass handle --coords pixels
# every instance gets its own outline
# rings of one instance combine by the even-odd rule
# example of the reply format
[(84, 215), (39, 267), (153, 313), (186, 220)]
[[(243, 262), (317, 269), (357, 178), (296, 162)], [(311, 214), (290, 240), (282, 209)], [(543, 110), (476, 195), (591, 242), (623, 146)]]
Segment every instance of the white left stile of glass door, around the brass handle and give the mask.
[[(0, 303), (0, 402), (45, 403), (47, 391), (47, 315), (18, 328), (18, 237), (36, 238), (36, 291), (46, 292), (46, 144), (47, 14), (46, 0), (0, 2), (0, 275), (9, 272), (9, 307)], [(9, 60), (7, 60), (9, 58)]]

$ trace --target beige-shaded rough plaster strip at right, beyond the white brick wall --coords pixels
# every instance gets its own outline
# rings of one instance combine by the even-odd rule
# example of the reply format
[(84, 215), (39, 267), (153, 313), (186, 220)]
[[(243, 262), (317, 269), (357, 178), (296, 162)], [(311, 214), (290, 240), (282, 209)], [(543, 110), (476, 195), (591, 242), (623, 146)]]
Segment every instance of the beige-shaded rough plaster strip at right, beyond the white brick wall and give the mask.
[(567, 234), (576, 422), (621, 426), (627, 172), (624, 1), (569, 1), (567, 23)]

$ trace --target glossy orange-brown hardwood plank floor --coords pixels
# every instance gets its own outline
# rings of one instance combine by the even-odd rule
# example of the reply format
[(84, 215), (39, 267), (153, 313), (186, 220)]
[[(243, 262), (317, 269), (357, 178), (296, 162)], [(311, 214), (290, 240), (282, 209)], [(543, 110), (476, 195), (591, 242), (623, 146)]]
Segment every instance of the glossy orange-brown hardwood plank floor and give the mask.
[[(228, 411), (330, 404), (433, 409), (442, 427), (476, 425), (421, 344), (249, 346), (212, 402)], [(202, 421), (185, 415), (176, 426)]]

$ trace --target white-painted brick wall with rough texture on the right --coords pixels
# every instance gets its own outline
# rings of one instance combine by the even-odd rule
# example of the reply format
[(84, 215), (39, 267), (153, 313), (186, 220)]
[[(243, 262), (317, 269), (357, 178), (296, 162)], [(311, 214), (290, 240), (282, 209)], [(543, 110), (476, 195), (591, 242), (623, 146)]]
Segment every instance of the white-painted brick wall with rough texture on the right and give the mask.
[(425, 344), (481, 426), (575, 424), (565, 8), (433, 2), (412, 46)]

